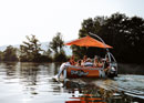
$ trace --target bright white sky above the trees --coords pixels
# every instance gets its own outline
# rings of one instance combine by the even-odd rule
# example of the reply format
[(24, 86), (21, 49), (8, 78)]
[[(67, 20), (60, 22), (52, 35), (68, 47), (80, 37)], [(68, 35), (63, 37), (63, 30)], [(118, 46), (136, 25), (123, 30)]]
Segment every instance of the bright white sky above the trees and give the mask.
[(144, 18), (144, 0), (0, 0), (0, 45), (20, 44), (30, 34), (51, 41), (56, 32), (70, 41), (83, 19), (115, 12)]

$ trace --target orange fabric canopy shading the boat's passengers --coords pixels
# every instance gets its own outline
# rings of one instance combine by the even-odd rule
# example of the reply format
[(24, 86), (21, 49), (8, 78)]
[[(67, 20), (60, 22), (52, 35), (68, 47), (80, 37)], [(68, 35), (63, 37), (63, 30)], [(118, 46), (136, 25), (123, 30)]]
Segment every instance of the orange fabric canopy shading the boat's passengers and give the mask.
[(71, 41), (71, 42), (68, 42), (65, 43), (65, 45), (80, 45), (80, 47), (97, 47), (97, 48), (112, 48), (110, 45), (102, 43), (89, 35), (84, 37), (84, 38), (81, 38), (81, 39), (76, 39), (74, 41)]

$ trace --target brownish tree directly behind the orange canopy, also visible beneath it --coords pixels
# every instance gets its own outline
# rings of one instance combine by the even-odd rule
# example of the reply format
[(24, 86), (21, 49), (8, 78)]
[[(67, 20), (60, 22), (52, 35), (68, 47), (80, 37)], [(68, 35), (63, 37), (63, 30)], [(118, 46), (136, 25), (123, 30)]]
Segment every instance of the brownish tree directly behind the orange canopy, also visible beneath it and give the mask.
[[(88, 20), (83, 20), (81, 24), (81, 29), (79, 30), (79, 38), (83, 38), (89, 34), (89, 32), (99, 34), (99, 32), (102, 29), (102, 25), (105, 23), (106, 17), (95, 17), (94, 19), (89, 18)], [(73, 54), (78, 59), (82, 59), (84, 54), (86, 54), (90, 58), (93, 58), (94, 54), (97, 54), (100, 49), (97, 48), (85, 48), (85, 47), (76, 47), (72, 45), (71, 47), (73, 50)], [(81, 51), (81, 52), (80, 52)]]

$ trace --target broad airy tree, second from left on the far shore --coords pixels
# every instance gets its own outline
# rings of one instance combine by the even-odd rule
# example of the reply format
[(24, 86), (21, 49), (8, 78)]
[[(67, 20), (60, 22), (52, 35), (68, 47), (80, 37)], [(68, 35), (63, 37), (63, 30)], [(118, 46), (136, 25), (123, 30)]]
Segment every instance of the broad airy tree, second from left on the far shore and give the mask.
[(25, 37), (28, 41), (23, 41), (20, 45), (20, 61), (38, 62), (40, 58), (41, 44), (35, 35)]

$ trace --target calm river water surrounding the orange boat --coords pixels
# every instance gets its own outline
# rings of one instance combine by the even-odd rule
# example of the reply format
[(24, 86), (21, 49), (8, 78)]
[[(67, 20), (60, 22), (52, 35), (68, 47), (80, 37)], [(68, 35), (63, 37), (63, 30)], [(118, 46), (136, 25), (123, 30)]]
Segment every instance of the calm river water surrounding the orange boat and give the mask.
[(52, 80), (60, 63), (0, 63), (0, 103), (144, 103), (144, 66), (119, 64), (114, 79)]

